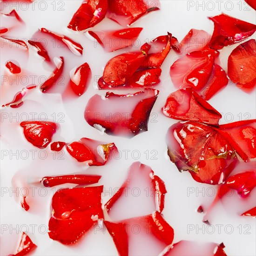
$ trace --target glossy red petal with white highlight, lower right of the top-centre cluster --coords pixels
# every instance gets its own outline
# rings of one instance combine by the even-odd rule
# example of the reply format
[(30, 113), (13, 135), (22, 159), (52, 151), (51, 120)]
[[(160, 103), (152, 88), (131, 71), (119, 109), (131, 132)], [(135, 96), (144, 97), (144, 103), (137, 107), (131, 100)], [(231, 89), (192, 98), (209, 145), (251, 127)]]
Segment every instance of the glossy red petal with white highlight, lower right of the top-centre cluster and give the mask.
[(160, 83), (161, 72), (161, 68), (150, 68), (136, 71), (127, 81), (124, 88), (155, 86)]

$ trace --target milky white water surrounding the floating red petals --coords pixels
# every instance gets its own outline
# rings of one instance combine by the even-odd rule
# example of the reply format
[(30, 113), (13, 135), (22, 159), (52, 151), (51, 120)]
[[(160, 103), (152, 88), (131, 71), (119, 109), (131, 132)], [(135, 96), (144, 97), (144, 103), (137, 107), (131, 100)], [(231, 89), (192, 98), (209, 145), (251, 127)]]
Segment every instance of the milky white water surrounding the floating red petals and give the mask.
[[(14, 253), (20, 231), (23, 230), (28, 232), (32, 241), (38, 245), (33, 255), (116, 255), (117, 251), (112, 238), (106, 229), (100, 229), (100, 227), (92, 229), (74, 246), (65, 246), (51, 240), (46, 232), (51, 212), (51, 198), (54, 189), (58, 189), (58, 187), (46, 189), (38, 185), (37, 182), (46, 175), (69, 173), (102, 175), (99, 185), (105, 186), (103, 203), (106, 203), (113, 192), (117, 191), (116, 188), (120, 188), (125, 181), (129, 166), (135, 161), (140, 161), (149, 165), (154, 170), (155, 175), (158, 175), (166, 184), (168, 193), (165, 197), (165, 209), (162, 214), (175, 230), (174, 243), (180, 240), (223, 242), (226, 246), (227, 255), (256, 255), (256, 219), (237, 215), (237, 213), (241, 214), (240, 209), (237, 209), (237, 207), (240, 207), (237, 203), (240, 198), (234, 195), (234, 199), (231, 198), (225, 204), (226, 206), (221, 203), (216, 205), (210, 216), (212, 226), (208, 227), (202, 222), (203, 215), (197, 213), (196, 209), (199, 205), (209, 205), (213, 201), (217, 191), (216, 188), (195, 182), (187, 172), (179, 173), (175, 165), (168, 159), (165, 135), (169, 126), (176, 121), (164, 116), (161, 113), (161, 108), (164, 106), (168, 94), (176, 90), (169, 76), (169, 67), (179, 58), (174, 51), (168, 54), (162, 65), (162, 82), (155, 87), (160, 90), (160, 93), (149, 119), (148, 132), (141, 133), (132, 139), (102, 135), (84, 120), (84, 109), (90, 97), (95, 93), (106, 94), (106, 91), (95, 91), (94, 89), (96, 87), (95, 81), (102, 75), (105, 64), (110, 58), (124, 53), (128, 49), (105, 53), (104, 49), (95, 40), (68, 30), (66, 26), (81, 2), (80, 0), (37, 0), (31, 5), (24, 3), (16, 7), (10, 5), (3, 7), (4, 13), (9, 13), (13, 8), (16, 9), (22, 20), (27, 24), (27, 27), (19, 25), (17, 29), (13, 28), (8, 33), (9, 36), (27, 41), (33, 37), (38, 28), (45, 27), (60, 34), (65, 34), (74, 41), (81, 43), (84, 47), (83, 56), (77, 56), (67, 47), (54, 45), (55, 41), (47, 41), (50, 44), (48, 45), (49, 49), (51, 48), (49, 55), (64, 57), (64, 72), (66, 73), (84, 62), (88, 62), (92, 69), (92, 80), (88, 90), (81, 97), (75, 97), (71, 93), (66, 93), (62, 97), (61, 94), (56, 93), (57, 91), (65, 91), (69, 77), (64, 77), (51, 93), (42, 94), (39, 88), (36, 88), (29, 91), (23, 106), (20, 108), (1, 109), (0, 254)], [(212, 34), (213, 24), (206, 17), (218, 15), (221, 12), (251, 23), (255, 22), (255, 11), (250, 10), (251, 8), (244, 1), (227, 2), (229, 3), (224, 1), (218, 1), (217, 3), (215, 1), (162, 0), (160, 11), (149, 13), (133, 25), (133, 27), (143, 27), (138, 42), (141, 46), (144, 42), (166, 34), (167, 31), (177, 37), (178, 40), (182, 40), (191, 28), (204, 29)], [(1, 24), (1, 26), (4, 25)], [(113, 30), (121, 28), (114, 21), (104, 19), (93, 29)], [(252, 36), (252, 38), (254, 37), (255, 35)], [(48, 38), (47, 35), (44, 35), (44, 38)], [(0, 48), (1, 76), (5, 74), (6, 61), (16, 60), (22, 70), (29, 72), (27, 74), (29, 81), (19, 81), (18, 85), (13, 84), (15, 88), (11, 88), (13, 90), (12, 94), (7, 92), (7, 98), (1, 95), (1, 105), (12, 101), (14, 94), (28, 85), (27, 83), (40, 84), (40, 82), (43, 82), (43, 79), (47, 78), (55, 68), (54, 65), (49, 65), (42, 57), (37, 55), (36, 51), (30, 50), (29, 54), (26, 55), (26, 53), (20, 52), (14, 47), (9, 49), (10, 51), (6, 50), (7, 42), (4, 41), (3, 44), (1, 43)], [(221, 51), (220, 64), (226, 71), (228, 56), (237, 45), (226, 47)], [(135, 46), (133, 50), (139, 49), (140, 46)], [(32, 81), (31, 74), (35, 75), (34, 81)], [(10, 79), (10, 76), (1, 78), (1, 87), (3, 87), (3, 79)], [(135, 92), (135, 90), (129, 91), (129, 93), (132, 92)], [(115, 93), (118, 93), (118, 91), (115, 91)], [(124, 93), (124, 90), (122, 90), (120, 94)], [(230, 83), (209, 103), (222, 113), (221, 124), (224, 124), (255, 118), (255, 96), (255, 90), (251, 94), (246, 94)], [(119, 107), (117, 106), (117, 108)], [(53, 136), (53, 141), (71, 142), (82, 137), (88, 137), (106, 143), (115, 142), (120, 151), (119, 157), (105, 166), (87, 168), (83, 163), (79, 163), (72, 158), (66, 149), (58, 153), (52, 152), (49, 147), (45, 150), (35, 148), (25, 139), (23, 129), (19, 126), (21, 121), (33, 119), (55, 121), (60, 124), (60, 128)], [(15, 177), (13, 181), (12, 178), (17, 172), (18, 174), (15, 177), (20, 180), (19, 176), (23, 176), (21, 185), (24, 188), (29, 188), (28, 197), (31, 197), (29, 199), (31, 200), (31, 209), (28, 212), (25, 212), (15, 201), (16, 194), (19, 196), (20, 193), (26, 193), (27, 190), (21, 191), (19, 187), (21, 185), (17, 184), (17, 190), (13, 188), (14, 192), (10, 193), (12, 182), (15, 183)], [(29, 179), (27, 179), (28, 177)], [(249, 201), (253, 200), (253, 196), (255, 195), (252, 193)], [(224, 201), (227, 201), (226, 198)], [(244, 206), (244, 202), (242, 204)], [(252, 208), (252, 204), (248, 203), (248, 209)], [(138, 205), (138, 207), (141, 207), (141, 215), (144, 214), (143, 205)], [(126, 211), (128, 210), (126, 209)], [(139, 210), (136, 210), (136, 213), (139, 214)], [(122, 209), (120, 209), (120, 219), (121, 215)], [(123, 216), (128, 217), (129, 214), (124, 213)], [(151, 243), (151, 240), (148, 241), (145, 243)], [(133, 251), (131, 249), (131, 252)], [(150, 253), (152, 252), (148, 251), (147, 255)]]

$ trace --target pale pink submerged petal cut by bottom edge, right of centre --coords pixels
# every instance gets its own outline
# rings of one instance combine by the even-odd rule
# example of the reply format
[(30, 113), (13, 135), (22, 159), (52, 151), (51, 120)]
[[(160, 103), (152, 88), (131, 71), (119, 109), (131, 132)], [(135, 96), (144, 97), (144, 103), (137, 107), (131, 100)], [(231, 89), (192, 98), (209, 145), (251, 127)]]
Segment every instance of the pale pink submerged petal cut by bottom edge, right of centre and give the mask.
[(172, 245), (164, 256), (221, 256), (221, 254), (215, 253), (217, 248), (219, 248), (219, 245), (216, 243), (182, 240)]

